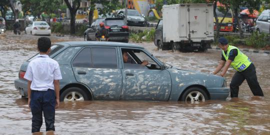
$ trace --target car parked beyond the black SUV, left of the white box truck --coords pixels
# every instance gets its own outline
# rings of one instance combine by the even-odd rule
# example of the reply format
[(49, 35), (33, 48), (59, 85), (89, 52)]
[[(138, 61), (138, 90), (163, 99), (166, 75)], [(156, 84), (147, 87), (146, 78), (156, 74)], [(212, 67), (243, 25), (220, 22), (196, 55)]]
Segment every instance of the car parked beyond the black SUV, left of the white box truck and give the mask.
[[(117, 17), (124, 18), (124, 9), (118, 10), (116, 13)], [(148, 23), (144, 18), (144, 15), (141, 15), (138, 10), (127, 9), (127, 25), (135, 26), (147, 26)]]

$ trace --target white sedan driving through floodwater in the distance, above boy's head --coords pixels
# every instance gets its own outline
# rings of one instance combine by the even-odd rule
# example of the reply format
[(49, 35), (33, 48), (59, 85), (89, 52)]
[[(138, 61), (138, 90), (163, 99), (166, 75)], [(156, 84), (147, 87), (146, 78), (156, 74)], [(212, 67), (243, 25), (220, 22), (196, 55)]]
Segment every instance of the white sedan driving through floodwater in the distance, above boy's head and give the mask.
[(51, 30), (50, 26), (46, 21), (32, 21), (25, 28), (26, 34), (37, 35), (37, 34), (46, 34), (50, 35)]

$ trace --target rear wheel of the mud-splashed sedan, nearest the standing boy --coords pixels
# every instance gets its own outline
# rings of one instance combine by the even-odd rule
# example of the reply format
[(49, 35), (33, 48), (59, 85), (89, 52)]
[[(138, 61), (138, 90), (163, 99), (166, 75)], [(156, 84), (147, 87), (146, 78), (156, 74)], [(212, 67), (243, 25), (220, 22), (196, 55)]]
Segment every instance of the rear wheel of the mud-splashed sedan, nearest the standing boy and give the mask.
[(60, 95), (60, 101), (83, 101), (88, 100), (88, 96), (82, 89), (78, 87), (69, 87)]

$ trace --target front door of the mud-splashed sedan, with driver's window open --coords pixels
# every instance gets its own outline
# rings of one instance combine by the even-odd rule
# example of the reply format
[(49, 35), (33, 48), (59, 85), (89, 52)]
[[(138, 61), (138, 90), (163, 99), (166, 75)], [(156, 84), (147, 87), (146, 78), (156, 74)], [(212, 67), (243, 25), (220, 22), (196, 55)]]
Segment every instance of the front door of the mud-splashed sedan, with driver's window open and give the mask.
[[(137, 63), (122, 62), (122, 94), (123, 100), (168, 100), (171, 90), (170, 74), (160, 69), (151, 54), (144, 49), (121, 48), (121, 53), (128, 51), (131, 59)], [(138, 54), (134, 54), (138, 53)], [(132, 55), (133, 56), (132, 56)], [(141, 65), (142, 60), (149, 65)], [(139, 60), (139, 61), (138, 61)], [(123, 61), (123, 58), (122, 58)]]

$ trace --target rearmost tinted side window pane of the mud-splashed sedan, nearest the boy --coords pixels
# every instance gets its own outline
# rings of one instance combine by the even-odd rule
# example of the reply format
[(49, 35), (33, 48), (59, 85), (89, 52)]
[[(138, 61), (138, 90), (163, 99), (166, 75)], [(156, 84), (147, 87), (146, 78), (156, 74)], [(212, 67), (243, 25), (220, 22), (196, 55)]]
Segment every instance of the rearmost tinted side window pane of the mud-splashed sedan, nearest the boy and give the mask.
[(91, 49), (84, 48), (82, 49), (74, 58), (72, 65), (74, 67), (92, 67), (91, 61)]

